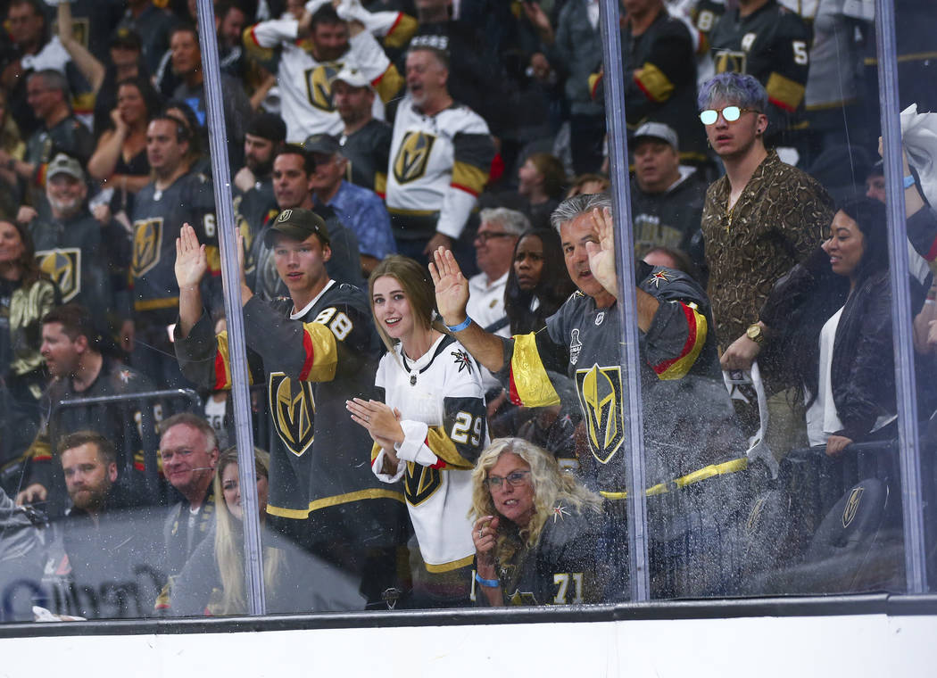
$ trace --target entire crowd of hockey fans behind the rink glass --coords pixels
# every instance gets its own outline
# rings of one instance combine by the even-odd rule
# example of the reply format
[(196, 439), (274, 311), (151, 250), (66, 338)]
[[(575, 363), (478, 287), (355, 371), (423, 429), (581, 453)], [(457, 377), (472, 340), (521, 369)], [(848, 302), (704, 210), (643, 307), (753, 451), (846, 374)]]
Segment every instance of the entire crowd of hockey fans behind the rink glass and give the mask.
[[(895, 437), (871, 3), (621, 0), (628, 215), (599, 5), (216, 0), (229, 225), (193, 0), (0, 0), (0, 554), (35, 582), (0, 573), (0, 618), (245, 612), (220, 228), (273, 612), (627, 595), (616, 217), (655, 596), (751, 567), (764, 413), (726, 384), (755, 361), (777, 459)], [(898, 30), (924, 114), (933, 38)], [(926, 416), (932, 135), (903, 166)]]

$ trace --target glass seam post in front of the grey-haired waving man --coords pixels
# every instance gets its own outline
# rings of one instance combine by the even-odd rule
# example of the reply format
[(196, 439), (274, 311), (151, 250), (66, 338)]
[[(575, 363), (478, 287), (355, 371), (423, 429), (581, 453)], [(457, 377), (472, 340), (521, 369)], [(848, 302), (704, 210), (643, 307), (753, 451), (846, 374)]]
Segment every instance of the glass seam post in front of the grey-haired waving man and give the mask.
[[(604, 64), (605, 120), (608, 137), (612, 204), (615, 208), (615, 266), (620, 300), (619, 332), (624, 355), (619, 353), (625, 374), (627, 397), (624, 434), (628, 445), (628, 547), (631, 599), (650, 599), (647, 565), (647, 498), (644, 493), (644, 425), (638, 355), (637, 301), (634, 292), (634, 250), (632, 243), (632, 201), (628, 181), (628, 142), (625, 128), (624, 67), (621, 61), (621, 34), (618, 31), (617, 0), (602, 0), (602, 63)], [(611, 30), (610, 30), (611, 29)]]

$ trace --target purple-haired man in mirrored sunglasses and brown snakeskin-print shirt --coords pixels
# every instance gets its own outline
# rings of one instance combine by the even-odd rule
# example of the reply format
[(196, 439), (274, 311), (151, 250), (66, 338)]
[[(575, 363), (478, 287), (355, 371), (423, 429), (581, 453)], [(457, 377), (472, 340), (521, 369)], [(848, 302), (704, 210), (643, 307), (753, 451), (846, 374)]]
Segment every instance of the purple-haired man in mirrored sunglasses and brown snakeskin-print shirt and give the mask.
[[(746, 332), (762, 340), (756, 323), (768, 291), (823, 242), (833, 217), (825, 188), (765, 147), (767, 105), (761, 83), (737, 73), (717, 75), (699, 96), (700, 121), (725, 167), (725, 176), (706, 191), (702, 223), (707, 291), (722, 351)], [(762, 356), (762, 367), (770, 368), (766, 361)], [(779, 449), (791, 440), (785, 437)]]

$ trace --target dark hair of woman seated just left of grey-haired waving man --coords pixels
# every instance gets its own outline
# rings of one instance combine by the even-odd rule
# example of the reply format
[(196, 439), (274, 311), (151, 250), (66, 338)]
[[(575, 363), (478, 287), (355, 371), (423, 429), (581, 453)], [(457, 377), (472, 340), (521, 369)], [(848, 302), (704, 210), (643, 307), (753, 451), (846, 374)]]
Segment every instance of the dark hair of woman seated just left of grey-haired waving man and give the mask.
[[(517, 273), (513, 264), (517, 258), (517, 248), (527, 237), (539, 238), (543, 243), (543, 273), (537, 287), (529, 291), (521, 289), (517, 284)], [(570, 273), (566, 270), (563, 248), (557, 232), (552, 228), (536, 228), (523, 233), (514, 245), (508, 282), (504, 287), (504, 313), (511, 322), (511, 333), (527, 334), (543, 330), (546, 318), (555, 314), (575, 289)], [(530, 303), (534, 298), (540, 301), (540, 305), (535, 311), (531, 311)]]

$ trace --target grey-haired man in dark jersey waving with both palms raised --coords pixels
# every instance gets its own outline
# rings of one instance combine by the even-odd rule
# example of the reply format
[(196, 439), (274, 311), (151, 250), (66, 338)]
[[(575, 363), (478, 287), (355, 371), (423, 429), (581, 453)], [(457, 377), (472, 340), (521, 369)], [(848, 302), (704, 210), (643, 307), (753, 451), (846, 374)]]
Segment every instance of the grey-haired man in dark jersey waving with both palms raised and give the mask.
[[(547, 318), (541, 332), (508, 339), (485, 332), (467, 313), (468, 281), (452, 252), (437, 250), (430, 273), (439, 314), (449, 331), (498, 376), (515, 405), (559, 405), (559, 393), (564, 391), (560, 375), (572, 381), (578, 402), (566, 405), (580, 411), (580, 439), (589, 450), (580, 454), (581, 473), (587, 484), (608, 500), (607, 547), (611, 561), (623, 567), (625, 559), (616, 559), (614, 550), (623, 549), (627, 537), (621, 500), (627, 489), (630, 443), (624, 436), (628, 393), (621, 369), (623, 338), (618, 330), (620, 305), (610, 200), (605, 195), (564, 200), (551, 223), (558, 229), (567, 270), (579, 290)], [(648, 487), (660, 485), (676, 491), (683, 479), (703, 478), (691, 476), (694, 471), (721, 462), (727, 454), (740, 453), (744, 445), (729, 425), (732, 407), (721, 383), (715, 338), (708, 332), (712, 317), (706, 294), (685, 273), (641, 261), (635, 263), (635, 269), (647, 483)], [(725, 473), (733, 473), (744, 468), (744, 462), (721, 467)], [(705, 480), (699, 485), (702, 482)], [(695, 509), (684, 506), (682, 494), (672, 494), (670, 503), (658, 499), (648, 505), (652, 519), (661, 521), (656, 526), (662, 531), (679, 539), (693, 537), (680, 541), (692, 544), (687, 553), (678, 550), (675, 556), (667, 550), (673, 548), (669, 542), (652, 552), (656, 595), (691, 595), (715, 585), (714, 580), (732, 576), (719, 560), (725, 545), (722, 540), (731, 531), (717, 529), (714, 539), (706, 539), (698, 531), (706, 529), (710, 516), (737, 508), (741, 497), (723, 496), (716, 483), (710, 485), (712, 492), (694, 487)], [(692, 510), (697, 516), (704, 515), (703, 522), (680, 523), (680, 517)], [(725, 523), (727, 519), (719, 521), (720, 525)], [(688, 531), (694, 534), (684, 534)], [(726, 562), (731, 559), (725, 557)], [(678, 569), (679, 574), (674, 574)], [(626, 570), (623, 567), (619, 574)], [(624, 586), (621, 580), (618, 584)], [(623, 590), (613, 592), (612, 597), (620, 597)]]

